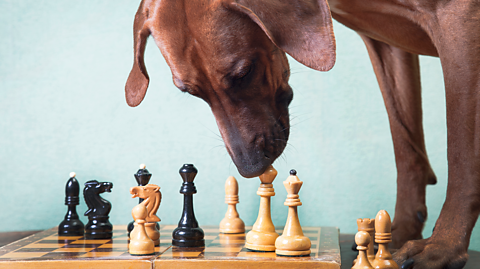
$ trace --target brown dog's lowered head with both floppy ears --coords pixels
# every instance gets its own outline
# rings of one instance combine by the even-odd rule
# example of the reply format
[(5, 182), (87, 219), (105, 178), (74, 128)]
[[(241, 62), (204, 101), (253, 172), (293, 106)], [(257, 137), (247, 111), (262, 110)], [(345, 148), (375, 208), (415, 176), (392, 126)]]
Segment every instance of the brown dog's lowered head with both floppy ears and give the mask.
[(293, 93), (285, 53), (316, 70), (335, 62), (326, 0), (143, 0), (127, 103), (143, 100), (146, 40), (155, 39), (174, 84), (206, 101), (240, 174), (253, 177), (283, 152)]

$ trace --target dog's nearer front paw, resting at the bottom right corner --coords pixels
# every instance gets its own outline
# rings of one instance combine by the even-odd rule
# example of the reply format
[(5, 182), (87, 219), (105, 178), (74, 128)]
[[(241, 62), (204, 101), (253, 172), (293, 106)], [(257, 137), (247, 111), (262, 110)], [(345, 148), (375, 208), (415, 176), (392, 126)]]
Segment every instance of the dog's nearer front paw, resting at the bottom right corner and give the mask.
[(461, 269), (468, 260), (464, 246), (431, 238), (408, 241), (393, 254), (402, 269)]

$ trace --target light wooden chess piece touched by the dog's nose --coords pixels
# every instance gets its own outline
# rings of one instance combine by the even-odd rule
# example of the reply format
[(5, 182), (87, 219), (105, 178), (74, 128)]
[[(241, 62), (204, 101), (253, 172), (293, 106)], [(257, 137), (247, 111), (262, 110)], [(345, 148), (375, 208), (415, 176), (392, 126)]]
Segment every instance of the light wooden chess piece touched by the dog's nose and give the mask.
[(247, 233), (247, 242), (245, 243), (247, 249), (275, 251), (275, 240), (278, 234), (275, 232), (270, 213), (270, 197), (275, 195), (272, 182), (276, 176), (277, 170), (271, 165), (260, 176), (261, 184), (257, 190), (257, 195), (260, 196), (260, 209), (257, 221), (253, 224), (252, 230)]

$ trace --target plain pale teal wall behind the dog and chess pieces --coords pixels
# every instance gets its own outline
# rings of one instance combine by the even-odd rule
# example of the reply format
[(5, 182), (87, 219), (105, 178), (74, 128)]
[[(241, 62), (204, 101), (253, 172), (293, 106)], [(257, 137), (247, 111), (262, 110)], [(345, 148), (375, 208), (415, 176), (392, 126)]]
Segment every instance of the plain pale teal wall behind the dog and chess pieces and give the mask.
[[(145, 163), (161, 186), (162, 224), (178, 222), (178, 169), (194, 163), (195, 213), (200, 225), (223, 218), (224, 182), (240, 185), (240, 216), (256, 219), (259, 180), (239, 176), (208, 105), (176, 89), (154, 42), (146, 51), (151, 83), (136, 108), (124, 100), (133, 60), (132, 25), (139, 1), (0, 1), (0, 231), (47, 229), (66, 212), (71, 171), (83, 185), (111, 181), (112, 223), (127, 223), (137, 199), (133, 174)], [(290, 58), (292, 130), (275, 162), (272, 216), (287, 217), (282, 181), (291, 168), (304, 181), (300, 221), (356, 231), (356, 219), (386, 209), (393, 217), (396, 169), (387, 114), (366, 49), (335, 23), (337, 63), (326, 73)], [(427, 188), (431, 234), (446, 191), (445, 97), (440, 62), (421, 57), (427, 150), (438, 184)], [(181, 123), (181, 124), (180, 124)], [(81, 219), (86, 211), (78, 208)], [(471, 248), (480, 250), (480, 228)]]

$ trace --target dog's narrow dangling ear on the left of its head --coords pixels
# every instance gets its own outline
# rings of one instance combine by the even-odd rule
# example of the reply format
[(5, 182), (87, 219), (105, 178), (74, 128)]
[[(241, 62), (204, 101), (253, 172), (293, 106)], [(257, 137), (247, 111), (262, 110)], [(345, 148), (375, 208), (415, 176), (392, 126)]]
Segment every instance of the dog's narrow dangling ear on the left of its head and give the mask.
[(149, 77), (143, 56), (150, 30), (145, 26), (146, 16), (143, 5), (138, 8), (133, 25), (134, 62), (125, 84), (125, 98), (129, 106), (138, 106), (147, 92)]

